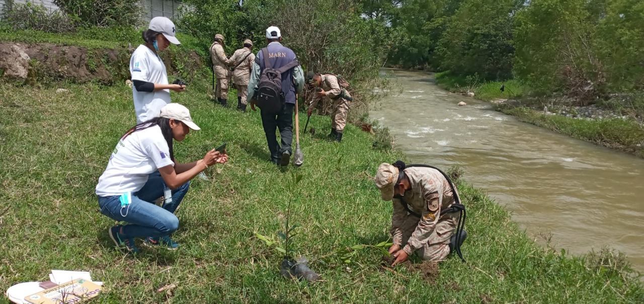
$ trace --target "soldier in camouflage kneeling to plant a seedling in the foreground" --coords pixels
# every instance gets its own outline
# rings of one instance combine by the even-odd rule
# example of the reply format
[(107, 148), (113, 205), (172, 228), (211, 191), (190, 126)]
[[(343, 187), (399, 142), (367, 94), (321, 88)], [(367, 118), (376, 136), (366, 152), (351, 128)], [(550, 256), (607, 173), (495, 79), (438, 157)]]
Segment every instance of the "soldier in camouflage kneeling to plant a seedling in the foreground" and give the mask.
[[(413, 252), (423, 260), (444, 260), (450, 254), (450, 237), (460, 216), (440, 215), (455, 203), (448, 180), (436, 169), (408, 167), (401, 173), (398, 167), (386, 163), (378, 167), (374, 180), (383, 200), (393, 200), (393, 245), (389, 250), (396, 258), (393, 265), (403, 263)], [(421, 217), (408, 212), (405, 203)]]

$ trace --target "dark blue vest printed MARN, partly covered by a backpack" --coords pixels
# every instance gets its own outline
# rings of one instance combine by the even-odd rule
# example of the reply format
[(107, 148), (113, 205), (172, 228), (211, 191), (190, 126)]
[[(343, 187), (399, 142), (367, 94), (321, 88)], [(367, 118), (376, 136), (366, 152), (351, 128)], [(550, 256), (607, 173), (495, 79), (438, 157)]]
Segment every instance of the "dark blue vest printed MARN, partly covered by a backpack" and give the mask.
[[(272, 68), (277, 69), (289, 64), (296, 59), (295, 53), (280, 43), (271, 43), (269, 45), (269, 61)], [(260, 75), (264, 70), (263, 52), (258, 52), (255, 57), (255, 63), (260, 65)], [(282, 93), (285, 95), (286, 102), (295, 104), (295, 87), (293, 86), (293, 69), (282, 73)]]

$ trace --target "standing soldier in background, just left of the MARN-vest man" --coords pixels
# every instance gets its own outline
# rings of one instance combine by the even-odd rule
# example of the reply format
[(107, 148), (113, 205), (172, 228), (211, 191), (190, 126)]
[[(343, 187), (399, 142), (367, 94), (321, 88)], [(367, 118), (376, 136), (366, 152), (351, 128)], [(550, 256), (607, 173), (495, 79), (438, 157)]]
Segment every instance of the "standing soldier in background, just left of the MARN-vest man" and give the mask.
[(232, 66), (232, 81), (237, 88), (237, 109), (246, 111), (248, 81), (251, 78), (252, 62), (255, 61), (255, 55), (252, 53), (252, 41), (246, 39), (243, 41), (243, 48), (236, 50), (229, 64)]

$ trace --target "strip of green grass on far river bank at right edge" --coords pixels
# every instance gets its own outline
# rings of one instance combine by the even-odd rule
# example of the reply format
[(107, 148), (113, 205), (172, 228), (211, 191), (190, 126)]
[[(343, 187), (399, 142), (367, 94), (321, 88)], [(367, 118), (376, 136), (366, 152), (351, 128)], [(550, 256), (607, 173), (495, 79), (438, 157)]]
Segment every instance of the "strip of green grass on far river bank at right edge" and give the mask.
[(562, 115), (545, 115), (525, 106), (502, 107), (500, 110), (536, 126), (644, 157), (644, 128), (633, 120), (574, 119)]

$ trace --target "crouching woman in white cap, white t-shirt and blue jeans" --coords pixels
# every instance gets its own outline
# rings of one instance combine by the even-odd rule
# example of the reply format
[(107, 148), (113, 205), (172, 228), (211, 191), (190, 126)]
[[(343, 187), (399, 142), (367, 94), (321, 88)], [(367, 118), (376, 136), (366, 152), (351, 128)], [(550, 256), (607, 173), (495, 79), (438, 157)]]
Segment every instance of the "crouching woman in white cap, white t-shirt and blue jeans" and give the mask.
[[(129, 129), (109, 157), (108, 166), (99, 178), (96, 194), (100, 213), (113, 220), (129, 223), (109, 229), (109, 237), (117, 247), (136, 253), (134, 238), (176, 249), (178, 243), (170, 234), (179, 227), (175, 216), (178, 205), (190, 186), (190, 180), (213, 164), (228, 160), (225, 151), (214, 149), (196, 162), (176, 162), (173, 139), (180, 142), (194, 124), (187, 108), (167, 104), (160, 117)], [(164, 205), (155, 205), (164, 196)]]

